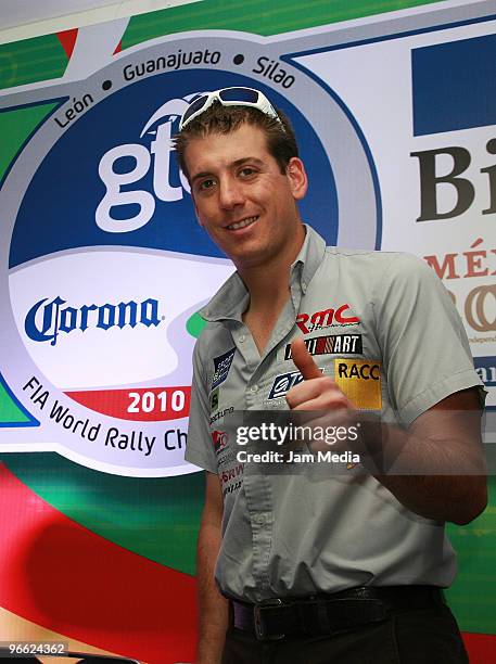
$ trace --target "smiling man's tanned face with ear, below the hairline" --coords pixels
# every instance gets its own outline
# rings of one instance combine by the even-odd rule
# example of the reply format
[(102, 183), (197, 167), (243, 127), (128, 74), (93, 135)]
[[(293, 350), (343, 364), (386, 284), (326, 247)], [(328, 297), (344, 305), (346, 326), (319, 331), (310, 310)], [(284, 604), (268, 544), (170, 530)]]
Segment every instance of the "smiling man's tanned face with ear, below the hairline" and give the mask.
[(200, 225), (239, 268), (294, 259), (303, 235), (296, 201), (307, 189), (301, 159), (281, 174), (264, 131), (244, 124), (192, 140), (186, 163)]

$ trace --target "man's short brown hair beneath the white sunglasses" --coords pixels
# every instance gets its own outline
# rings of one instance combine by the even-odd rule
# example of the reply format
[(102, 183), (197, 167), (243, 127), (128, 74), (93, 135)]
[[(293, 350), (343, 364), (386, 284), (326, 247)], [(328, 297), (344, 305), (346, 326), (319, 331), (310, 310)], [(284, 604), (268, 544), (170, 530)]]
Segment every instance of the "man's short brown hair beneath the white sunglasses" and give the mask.
[(267, 138), (267, 149), (285, 174), (288, 164), (293, 156), (298, 156), (296, 138), (288, 117), (276, 108), (281, 122), (251, 106), (224, 106), (214, 102), (205, 113), (202, 113), (174, 137), (177, 161), (188, 180), (190, 174), (185, 161), (186, 149), (192, 139), (204, 138), (209, 133), (231, 133), (241, 125), (259, 127)]

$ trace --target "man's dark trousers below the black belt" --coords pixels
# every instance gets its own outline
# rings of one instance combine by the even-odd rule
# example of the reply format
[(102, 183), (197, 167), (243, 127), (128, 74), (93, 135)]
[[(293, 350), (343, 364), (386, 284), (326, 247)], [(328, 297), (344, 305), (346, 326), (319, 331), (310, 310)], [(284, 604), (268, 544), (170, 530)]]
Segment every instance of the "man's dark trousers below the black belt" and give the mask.
[(448, 606), (397, 611), (385, 621), (332, 636), (257, 641), (230, 627), (221, 664), (468, 664)]

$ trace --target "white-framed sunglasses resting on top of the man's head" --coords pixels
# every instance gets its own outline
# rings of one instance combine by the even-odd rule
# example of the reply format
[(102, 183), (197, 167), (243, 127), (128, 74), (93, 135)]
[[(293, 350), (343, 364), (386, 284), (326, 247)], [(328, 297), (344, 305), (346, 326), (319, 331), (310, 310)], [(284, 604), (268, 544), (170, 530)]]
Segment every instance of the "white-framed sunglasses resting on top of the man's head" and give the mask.
[(252, 108), (258, 108), (262, 113), (274, 117), (282, 126), (282, 122), (272, 104), (259, 90), (254, 90), (253, 88), (221, 88), (220, 90), (202, 94), (188, 106), (179, 123), (179, 131), (182, 131), (191, 120), (209, 108), (214, 102), (218, 102), (222, 106), (251, 106)]

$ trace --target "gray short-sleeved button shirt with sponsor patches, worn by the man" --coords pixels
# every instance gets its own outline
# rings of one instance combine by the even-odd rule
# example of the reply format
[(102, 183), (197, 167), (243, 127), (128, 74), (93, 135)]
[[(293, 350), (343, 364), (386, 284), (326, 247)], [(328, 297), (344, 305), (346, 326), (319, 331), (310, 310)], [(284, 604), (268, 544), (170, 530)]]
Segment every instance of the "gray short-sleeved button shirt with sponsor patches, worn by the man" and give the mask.
[(186, 458), (222, 487), (221, 591), (257, 602), (369, 584), (448, 586), (456, 561), (443, 523), (410, 512), (372, 476), (322, 476), (316, 464), (246, 472), (222, 423), (233, 409), (287, 408), (298, 380), (289, 344), (303, 335), (357, 408), (408, 426), (481, 384), (449, 295), (414, 256), (326, 247), (309, 227), (290, 289), (262, 356), (242, 321), (249, 293), (238, 274), (202, 311)]

